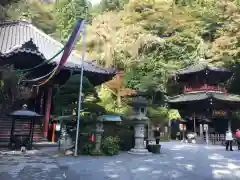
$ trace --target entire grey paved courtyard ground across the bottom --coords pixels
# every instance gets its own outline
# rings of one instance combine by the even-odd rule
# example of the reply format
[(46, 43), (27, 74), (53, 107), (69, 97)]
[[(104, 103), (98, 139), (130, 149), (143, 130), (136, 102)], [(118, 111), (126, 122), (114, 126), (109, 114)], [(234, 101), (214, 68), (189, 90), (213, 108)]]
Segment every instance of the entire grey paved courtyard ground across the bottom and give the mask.
[(239, 180), (240, 151), (164, 142), (160, 155), (2, 156), (0, 180)]

